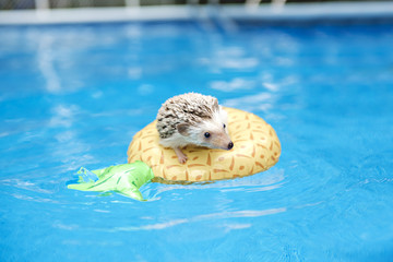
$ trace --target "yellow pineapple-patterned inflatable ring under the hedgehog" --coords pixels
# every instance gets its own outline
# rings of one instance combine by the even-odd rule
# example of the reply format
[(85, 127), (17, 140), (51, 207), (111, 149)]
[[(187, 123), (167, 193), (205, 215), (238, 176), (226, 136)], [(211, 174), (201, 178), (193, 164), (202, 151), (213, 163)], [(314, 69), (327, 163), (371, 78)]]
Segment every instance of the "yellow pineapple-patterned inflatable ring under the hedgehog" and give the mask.
[(262, 118), (226, 107), (229, 135), (235, 144), (230, 151), (188, 145), (188, 156), (180, 164), (175, 151), (158, 142), (156, 121), (139, 131), (128, 148), (128, 162), (146, 163), (155, 177), (170, 181), (212, 181), (250, 176), (274, 166), (281, 144), (274, 129)]

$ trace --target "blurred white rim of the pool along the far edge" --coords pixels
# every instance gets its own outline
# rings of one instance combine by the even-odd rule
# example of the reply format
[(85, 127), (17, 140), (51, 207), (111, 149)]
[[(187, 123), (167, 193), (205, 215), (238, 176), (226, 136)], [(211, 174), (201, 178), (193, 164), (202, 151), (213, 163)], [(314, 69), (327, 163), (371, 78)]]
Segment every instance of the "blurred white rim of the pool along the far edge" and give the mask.
[(0, 25), (188, 21), (213, 16), (273, 22), (380, 17), (393, 20), (393, 1), (12, 10), (0, 11)]

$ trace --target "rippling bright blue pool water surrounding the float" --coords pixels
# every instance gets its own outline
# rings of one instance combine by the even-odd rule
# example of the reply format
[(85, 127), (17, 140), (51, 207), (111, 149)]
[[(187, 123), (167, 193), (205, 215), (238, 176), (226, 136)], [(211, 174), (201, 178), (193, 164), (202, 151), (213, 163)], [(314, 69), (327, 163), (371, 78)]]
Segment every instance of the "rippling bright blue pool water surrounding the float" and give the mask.
[[(0, 27), (1, 261), (393, 261), (393, 25)], [(270, 170), (67, 189), (127, 162), (170, 96), (276, 130)]]

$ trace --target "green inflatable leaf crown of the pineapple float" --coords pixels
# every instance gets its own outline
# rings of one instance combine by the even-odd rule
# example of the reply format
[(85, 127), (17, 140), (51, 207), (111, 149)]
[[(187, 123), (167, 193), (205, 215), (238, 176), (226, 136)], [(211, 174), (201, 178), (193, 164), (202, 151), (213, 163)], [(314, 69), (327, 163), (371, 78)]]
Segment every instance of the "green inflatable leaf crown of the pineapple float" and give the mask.
[(144, 201), (139, 189), (154, 178), (152, 168), (140, 160), (92, 172), (81, 168), (79, 174), (82, 176), (78, 183), (68, 184), (69, 189), (96, 192), (114, 191), (139, 201)]

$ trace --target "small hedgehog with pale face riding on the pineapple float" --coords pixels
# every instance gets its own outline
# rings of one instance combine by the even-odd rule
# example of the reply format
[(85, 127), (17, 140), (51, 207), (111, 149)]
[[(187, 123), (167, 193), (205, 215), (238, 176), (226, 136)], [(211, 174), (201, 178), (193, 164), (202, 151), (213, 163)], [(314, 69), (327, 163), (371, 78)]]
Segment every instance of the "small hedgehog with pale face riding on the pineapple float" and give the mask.
[(227, 112), (217, 98), (188, 93), (167, 99), (157, 114), (159, 143), (174, 148), (179, 163), (187, 162), (181, 151), (189, 144), (210, 148), (231, 150)]

